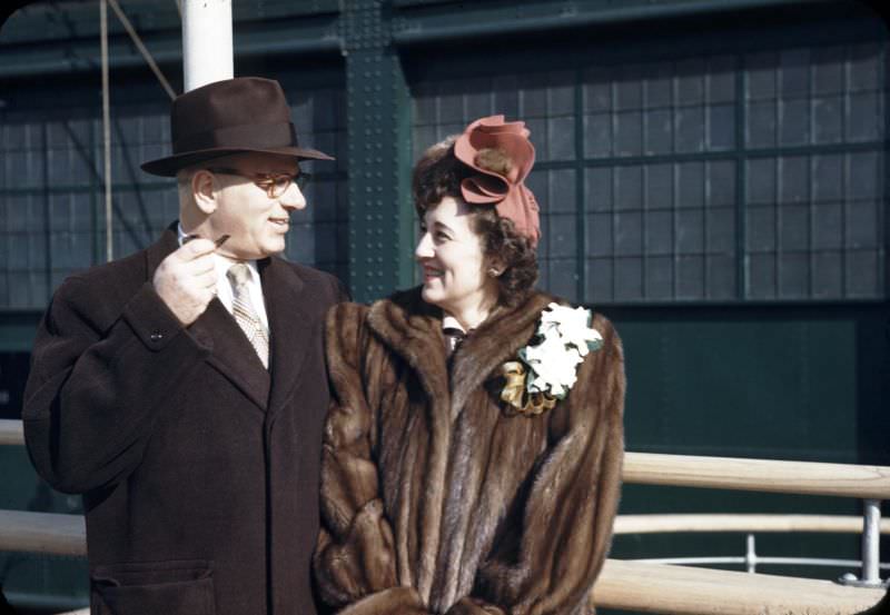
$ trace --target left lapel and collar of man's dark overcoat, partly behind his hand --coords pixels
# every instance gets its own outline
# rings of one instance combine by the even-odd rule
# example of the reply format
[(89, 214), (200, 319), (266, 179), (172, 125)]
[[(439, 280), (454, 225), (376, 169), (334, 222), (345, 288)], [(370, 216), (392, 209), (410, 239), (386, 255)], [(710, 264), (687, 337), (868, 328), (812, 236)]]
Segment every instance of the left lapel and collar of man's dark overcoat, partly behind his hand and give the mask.
[[(172, 226), (148, 248), (148, 280), (154, 278), (160, 261), (178, 247), (176, 227)], [(269, 398), (269, 373), (263, 367), (238, 323), (219, 299), (210, 301), (188, 330), (210, 349), (207, 363), (240, 389), (257, 408), (265, 411)]]

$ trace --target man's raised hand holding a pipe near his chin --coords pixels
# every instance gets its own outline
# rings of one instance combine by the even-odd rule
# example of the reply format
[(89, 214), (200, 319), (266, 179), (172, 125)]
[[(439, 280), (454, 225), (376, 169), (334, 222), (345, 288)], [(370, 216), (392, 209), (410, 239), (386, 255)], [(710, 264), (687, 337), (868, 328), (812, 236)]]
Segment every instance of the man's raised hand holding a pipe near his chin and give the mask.
[(155, 271), (155, 290), (185, 327), (197, 320), (216, 296), (215, 250), (209, 239), (194, 239)]

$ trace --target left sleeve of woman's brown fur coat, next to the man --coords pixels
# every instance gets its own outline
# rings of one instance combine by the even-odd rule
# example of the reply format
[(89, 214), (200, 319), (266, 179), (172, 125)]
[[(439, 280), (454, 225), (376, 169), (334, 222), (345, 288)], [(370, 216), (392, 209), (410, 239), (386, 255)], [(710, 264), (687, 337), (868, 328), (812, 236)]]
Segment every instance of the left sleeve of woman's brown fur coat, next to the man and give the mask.
[(327, 321), (332, 405), (322, 460), (322, 530), (314, 569), (322, 599), (344, 613), (426, 614), (411, 587), (398, 587), (393, 529), (373, 460), (374, 413), (366, 397), (367, 308), (340, 304)]

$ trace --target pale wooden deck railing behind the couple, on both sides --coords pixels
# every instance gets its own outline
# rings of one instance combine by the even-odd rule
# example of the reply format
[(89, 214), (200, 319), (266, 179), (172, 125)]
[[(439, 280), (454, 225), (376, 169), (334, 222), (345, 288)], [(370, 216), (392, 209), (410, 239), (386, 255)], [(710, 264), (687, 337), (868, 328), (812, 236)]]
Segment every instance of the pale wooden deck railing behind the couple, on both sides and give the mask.
[[(22, 445), (21, 421), (0, 420), (0, 445)], [(862, 532), (863, 587), (828, 581), (607, 559), (593, 591), (597, 606), (676, 615), (861, 612), (883, 596), (878, 539), (890, 524), (890, 467), (627, 453), (625, 483), (856, 497), (862, 519), (824, 515), (625, 515), (616, 534), (653, 532)], [(0, 510), (0, 550), (86, 555), (79, 515)], [(870, 586), (869, 586), (870, 585)], [(78, 612), (80, 613), (80, 612)], [(86, 612), (85, 612), (86, 613)]]

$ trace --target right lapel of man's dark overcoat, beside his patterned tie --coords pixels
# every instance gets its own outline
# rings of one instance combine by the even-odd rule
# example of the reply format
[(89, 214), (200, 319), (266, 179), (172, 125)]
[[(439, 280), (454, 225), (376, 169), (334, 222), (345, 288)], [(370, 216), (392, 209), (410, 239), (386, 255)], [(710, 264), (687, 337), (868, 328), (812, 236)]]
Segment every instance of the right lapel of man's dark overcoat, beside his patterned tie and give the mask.
[(280, 409), (294, 393), (300, 370), (313, 348), (313, 336), (322, 335), (322, 323), (306, 311), (305, 284), (287, 262), (273, 257), (260, 261), (259, 276), (269, 318), (271, 390), (269, 411)]

